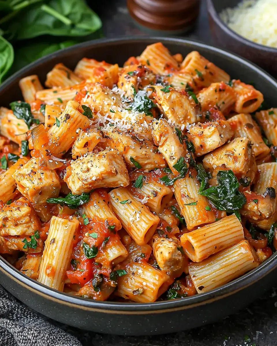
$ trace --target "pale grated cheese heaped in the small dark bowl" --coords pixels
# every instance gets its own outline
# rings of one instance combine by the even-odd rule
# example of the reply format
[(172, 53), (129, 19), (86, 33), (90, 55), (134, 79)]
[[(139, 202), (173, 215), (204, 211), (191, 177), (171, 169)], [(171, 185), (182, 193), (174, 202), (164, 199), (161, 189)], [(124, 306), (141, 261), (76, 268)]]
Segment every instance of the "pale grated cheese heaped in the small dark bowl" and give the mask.
[(277, 48), (277, 0), (244, 0), (223, 10), (220, 17), (239, 35)]

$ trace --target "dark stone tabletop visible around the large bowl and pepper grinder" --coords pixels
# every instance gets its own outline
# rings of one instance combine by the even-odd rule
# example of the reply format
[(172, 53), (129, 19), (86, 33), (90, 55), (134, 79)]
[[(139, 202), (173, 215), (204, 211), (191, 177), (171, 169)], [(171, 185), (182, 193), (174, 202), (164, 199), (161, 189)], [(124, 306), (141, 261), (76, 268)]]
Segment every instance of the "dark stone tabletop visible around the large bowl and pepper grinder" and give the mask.
[[(91, 4), (91, 7), (99, 13), (106, 37), (147, 35), (128, 15), (125, 0), (101, 0), (98, 4)], [(205, 3), (202, 4), (196, 28), (186, 37), (212, 43)], [(83, 346), (276, 346), (276, 307), (277, 294), (272, 289), (248, 309), (214, 325), (176, 334), (139, 338), (88, 333), (57, 322), (53, 323), (77, 336)]]

